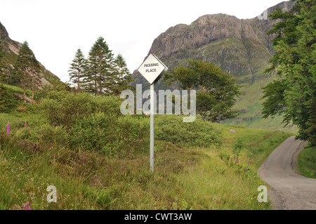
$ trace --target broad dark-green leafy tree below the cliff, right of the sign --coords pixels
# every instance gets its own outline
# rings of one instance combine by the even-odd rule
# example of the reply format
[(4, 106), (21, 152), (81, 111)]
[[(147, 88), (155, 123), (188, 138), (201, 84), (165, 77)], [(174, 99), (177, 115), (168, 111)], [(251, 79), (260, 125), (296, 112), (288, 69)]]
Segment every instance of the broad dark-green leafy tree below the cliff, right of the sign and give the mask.
[(178, 81), (180, 88), (197, 90), (197, 113), (204, 119), (220, 121), (236, 116), (232, 110), (235, 96), (239, 95), (239, 86), (235, 77), (223, 72), (212, 62), (189, 60), (189, 66), (176, 67), (164, 75), (171, 84)]

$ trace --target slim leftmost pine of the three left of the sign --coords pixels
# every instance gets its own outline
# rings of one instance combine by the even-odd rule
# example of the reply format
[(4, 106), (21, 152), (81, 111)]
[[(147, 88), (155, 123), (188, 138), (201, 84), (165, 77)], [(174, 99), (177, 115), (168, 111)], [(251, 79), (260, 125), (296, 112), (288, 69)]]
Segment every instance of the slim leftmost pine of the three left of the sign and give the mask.
[(72, 60), (70, 65), (70, 70), (68, 70), (68, 72), (70, 72), (70, 81), (77, 84), (77, 91), (81, 91), (81, 82), (84, 77), (86, 60), (80, 48), (74, 55), (74, 60)]

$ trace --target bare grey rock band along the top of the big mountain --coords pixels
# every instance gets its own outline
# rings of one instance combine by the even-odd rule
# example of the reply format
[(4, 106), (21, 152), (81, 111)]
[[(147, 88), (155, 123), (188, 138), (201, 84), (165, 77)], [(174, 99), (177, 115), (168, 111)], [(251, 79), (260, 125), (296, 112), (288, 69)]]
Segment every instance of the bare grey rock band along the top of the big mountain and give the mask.
[[(266, 10), (267, 15), (276, 11), (277, 7), (289, 11), (293, 6), (292, 1), (284, 1)], [(263, 13), (264, 14), (264, 13)], [(225, 14), (203, 15), (190, 25), (176, 25), (170, 27), (154, 39), (150, 53), (157, 55), (161, 60), (166, 60), (181, 51), (199, 48), (220, 39), (249, 39), (258, 41), (270, 48), (272, 37), (266, 33), (272, 28), (270, 18), (239, 20), (235, 16)]]

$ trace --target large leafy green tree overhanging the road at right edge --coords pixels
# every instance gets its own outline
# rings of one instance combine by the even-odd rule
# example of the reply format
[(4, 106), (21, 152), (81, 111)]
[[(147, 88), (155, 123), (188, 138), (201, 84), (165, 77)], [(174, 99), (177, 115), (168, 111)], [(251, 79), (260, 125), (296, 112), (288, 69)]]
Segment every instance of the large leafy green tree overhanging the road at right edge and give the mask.
[(263, 88), (263, 117), (282, 114), (284, 123), (298, 126), (298, 139), (316, 145), (316, 1), (298, 0), (289, 12), (271, 13), (277, 24), (277, 50), (266, 72), (276, 71), (277, 80)]

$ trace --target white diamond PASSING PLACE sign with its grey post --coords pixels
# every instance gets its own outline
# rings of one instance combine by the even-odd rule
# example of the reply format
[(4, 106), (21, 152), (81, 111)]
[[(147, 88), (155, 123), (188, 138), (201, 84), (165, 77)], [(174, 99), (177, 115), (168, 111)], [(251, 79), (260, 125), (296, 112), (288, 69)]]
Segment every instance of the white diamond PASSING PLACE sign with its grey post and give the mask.
[(150, 171), (154, 171), (154, 84), (162, 77), (168, 67), (157, 58), (150, 54), (138, 72), (150, 83)]

